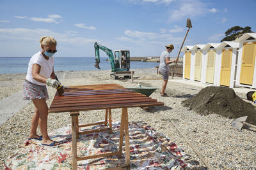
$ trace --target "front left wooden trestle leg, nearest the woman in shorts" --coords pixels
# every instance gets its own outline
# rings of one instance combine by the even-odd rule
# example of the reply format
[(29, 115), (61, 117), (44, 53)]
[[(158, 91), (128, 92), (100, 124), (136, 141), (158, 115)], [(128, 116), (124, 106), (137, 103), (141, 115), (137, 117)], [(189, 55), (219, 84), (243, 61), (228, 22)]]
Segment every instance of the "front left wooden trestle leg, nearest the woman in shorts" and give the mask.
[(72, 125), (72, 169), (77, 169), (77, 130), (79, 111), (70, 112)]

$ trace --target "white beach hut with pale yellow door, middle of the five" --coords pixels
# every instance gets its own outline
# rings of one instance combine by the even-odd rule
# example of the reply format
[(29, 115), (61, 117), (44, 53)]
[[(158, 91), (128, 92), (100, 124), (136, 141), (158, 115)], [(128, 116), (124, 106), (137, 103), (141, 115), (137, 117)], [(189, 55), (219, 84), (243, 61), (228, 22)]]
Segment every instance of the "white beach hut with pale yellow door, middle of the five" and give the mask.
[(202, 82), (211, 83), (213, 85), (216, 84), (217, 74), (215, 73), (216, 70), (216, 59), (219, 59), (221, 51), (217, 49), (220, 43), (207, 43), (202, 50), (207, 51), (207, 57), (204, 63), (204, 80)]

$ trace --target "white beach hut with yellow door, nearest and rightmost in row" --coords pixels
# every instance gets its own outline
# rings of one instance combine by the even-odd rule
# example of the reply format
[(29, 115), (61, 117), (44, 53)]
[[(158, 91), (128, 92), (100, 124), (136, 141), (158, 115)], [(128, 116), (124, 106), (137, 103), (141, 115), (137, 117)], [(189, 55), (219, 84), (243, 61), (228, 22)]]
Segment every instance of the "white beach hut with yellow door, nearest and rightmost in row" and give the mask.
[(239, 53), (237, 59), (236, 85), (256, 88), (255, 54), (256, 33), (246, 33), (237, 39)]

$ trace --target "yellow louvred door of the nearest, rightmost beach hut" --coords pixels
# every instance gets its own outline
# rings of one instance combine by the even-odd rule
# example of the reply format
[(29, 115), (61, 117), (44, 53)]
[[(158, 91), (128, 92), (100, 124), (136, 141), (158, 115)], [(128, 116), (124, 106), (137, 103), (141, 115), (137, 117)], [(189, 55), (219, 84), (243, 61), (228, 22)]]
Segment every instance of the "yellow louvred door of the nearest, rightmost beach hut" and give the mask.
[(252, 85), (255, 64), (256, 42), (244, 43), (240, 83)]

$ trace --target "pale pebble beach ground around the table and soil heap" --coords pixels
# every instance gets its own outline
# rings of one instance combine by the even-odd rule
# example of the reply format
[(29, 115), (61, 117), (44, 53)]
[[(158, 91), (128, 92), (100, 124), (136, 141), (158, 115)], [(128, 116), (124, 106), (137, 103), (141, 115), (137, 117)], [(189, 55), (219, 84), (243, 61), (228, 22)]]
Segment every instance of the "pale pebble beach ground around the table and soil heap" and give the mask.
[[(157, 132), (162, 132), (168, 136), (188, 155), (185, 162), (191, 164), (193, 169), (207, 169), (207, 167), (173, 127), (170, 118), (212, 169), (256, 169), (255, 131), (248, 129), (237, 131), (231, 126), (234, 119), (221, 117), (217, 114), (200, 115), (182, 106), (182, 101), (195, 96), (202, 87), (178, 83), (172, 81), (170, 77), (166, 88), (168, 97), (161, 97), (160, 90), (163, 80), (156, 80), (161, 76), (156, 74), (154, 68), (134, 69), (135, 78), (133, 81), (113, 80), (109, 76), (110, 73), (110, 71), (68, 71), (57, 72), (56, 74), (65, 86), (117, 83), (124, 87), (136, 87), (140, 83), (143, 86), (157, 87), (158, 89), (150, 97), (164, 102), (164, 106), (156, 106), (148, 111), (141, 108), (129, 108), (129, 122), (143, 121), (156, 129)], [(0, 74), (0, 100), (22, 90), (25, 76), (26, 74)], [(177, 79), (181, 78), (175, 77), (173, 80)], [(47, 90), (50, 96), (47, 104), (50, 106), (56, 89), (47, 87)], [(0, 169), (4, 169), (4, 159), (19, 150), (19, 145), (28, 138), (33, 112), (34, 106), (30, 102), (1, 125)], [(105, 110), (84, 111), (79, 117), (79, 122), (93, 123), (104, 119), (104, 114)], [(112, 118), (116, 121), (120, 120), (119, 109), (112, 111)], [(68, 113), (49, 114), (49, 132), (67, 125), (70, 125)], [(39, 129), (38, 134), (40, 134)]]

